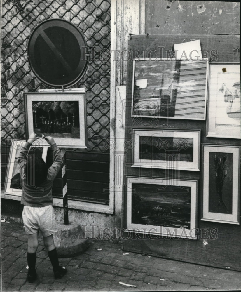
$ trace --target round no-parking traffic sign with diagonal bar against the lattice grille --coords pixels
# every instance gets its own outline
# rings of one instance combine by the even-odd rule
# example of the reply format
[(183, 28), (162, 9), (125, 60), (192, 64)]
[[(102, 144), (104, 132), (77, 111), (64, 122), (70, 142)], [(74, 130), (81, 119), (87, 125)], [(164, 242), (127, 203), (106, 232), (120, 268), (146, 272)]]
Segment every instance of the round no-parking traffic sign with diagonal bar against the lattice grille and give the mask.
[(36, 76), (48, 86), (76, 83), (88, 65), (88, 49), (80, 30), (63, 19), (48, 19), (32, 32), (28, 60)]

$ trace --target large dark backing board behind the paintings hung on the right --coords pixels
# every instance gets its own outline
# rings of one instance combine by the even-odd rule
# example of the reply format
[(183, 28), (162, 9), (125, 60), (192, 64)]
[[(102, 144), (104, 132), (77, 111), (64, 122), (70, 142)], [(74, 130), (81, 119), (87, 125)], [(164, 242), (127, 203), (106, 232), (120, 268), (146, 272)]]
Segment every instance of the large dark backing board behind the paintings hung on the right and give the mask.
[[(201, 143), (209, 144), (231, 144), (240, 145), (239, 139), (207, 138), (206, 121), (181, 120), (181, 119), (152, 119), (142, 118), (142, 121), (131, 117), (131, 95), (132, 95), (132, 74), (133, 55), (139, 58), (145, 57), (143, 52), (151, 52), (151, 57), (166, 58), (167, 51), (174, 50), (173, 44), (181, 43), (184, 39), (200, 39), (201, 49), (205, 50), (203, 57), (210, 58), (209, 62), (240, 62), (239, 35), (132, 35), (129, 37), (127, 74), (127, 95), (126, 95), (126, 120), (125, 120), (125, 141), (132, 141), (132, 128), (167, 128), (167, 129), (196, 129), (201, 130)], [(163, 47), (163, 48), (158, 48)], [(154, 51), (156, 50), (156, 51)], [(168, 126), (167, 126), (168, 124)], [(133, 147), (126, 148), (125, 176), (147, 176), (164, 177), (165, 169), (150, 169), (131, 167), (133, 164)], [(202, 155), (202, 153), (200, 153)], [(200, 157), (201, 158), (201, 157)], [(201, 160), (202, 161), (202, 160)], [(202, 228), (217, 228), (217, 239), (137, 239), (131, 238), (122, 240), (122, 247), (126, 251), (147, 253), (153, 256), (181, 260), (190, 263), (210, 265), (214, 267), (230, 268), (241, 271), (241, 226), (224, 223), (212, 223), (200, 221), (202, 218), (202, 165), (200, 171), (180, 171), (180, 178), (192, 178), (198, 180), (198, 223), (199, 230)], [(122, 227), (126, 227), (126, 192), (123, 188), (124, 215)], [(128, 237), (128, 236), (126, 236)], [(207, 242), (207, 243), (205, 243)]]

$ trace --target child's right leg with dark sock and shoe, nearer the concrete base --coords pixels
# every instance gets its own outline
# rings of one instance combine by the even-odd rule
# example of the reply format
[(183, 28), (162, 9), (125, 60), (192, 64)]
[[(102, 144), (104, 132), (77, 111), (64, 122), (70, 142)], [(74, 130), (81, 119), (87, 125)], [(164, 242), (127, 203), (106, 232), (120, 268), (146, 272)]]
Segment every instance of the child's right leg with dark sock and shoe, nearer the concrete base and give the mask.
[(59, 265), (59, 259), (58, 259), (57, 251), (54, 245), (53, 234), (49, 236), (43, 236), (43, 243), (44, 243), (44, 246), (48, 250), (48, 256), (53, 266), (55, 279), (62, 278), (66, 274), (67, 269)]

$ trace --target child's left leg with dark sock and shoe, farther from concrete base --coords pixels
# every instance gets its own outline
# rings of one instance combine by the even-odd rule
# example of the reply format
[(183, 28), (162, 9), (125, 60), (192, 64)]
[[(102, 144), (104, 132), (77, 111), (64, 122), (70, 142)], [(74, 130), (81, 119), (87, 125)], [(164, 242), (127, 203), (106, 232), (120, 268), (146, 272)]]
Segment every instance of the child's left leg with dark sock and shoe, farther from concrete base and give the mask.
[(28, 251), (27, 251), (27, 262), (29, 266), (27, 279), (30, 283), (34, 282), (36, 279), (36, 251), (38, 249), (38, 236), (39, 232), (34, 234), (28, 234)]

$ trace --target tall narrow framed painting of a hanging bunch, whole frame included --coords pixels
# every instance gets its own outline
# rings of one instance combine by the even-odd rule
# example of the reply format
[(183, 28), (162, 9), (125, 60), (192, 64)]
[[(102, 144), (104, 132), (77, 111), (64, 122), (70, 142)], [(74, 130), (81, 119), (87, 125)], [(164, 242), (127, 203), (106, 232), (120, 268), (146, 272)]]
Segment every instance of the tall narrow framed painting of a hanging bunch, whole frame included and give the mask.
[(240, 147), (202, 144), (203, 221), (239, 224)]

